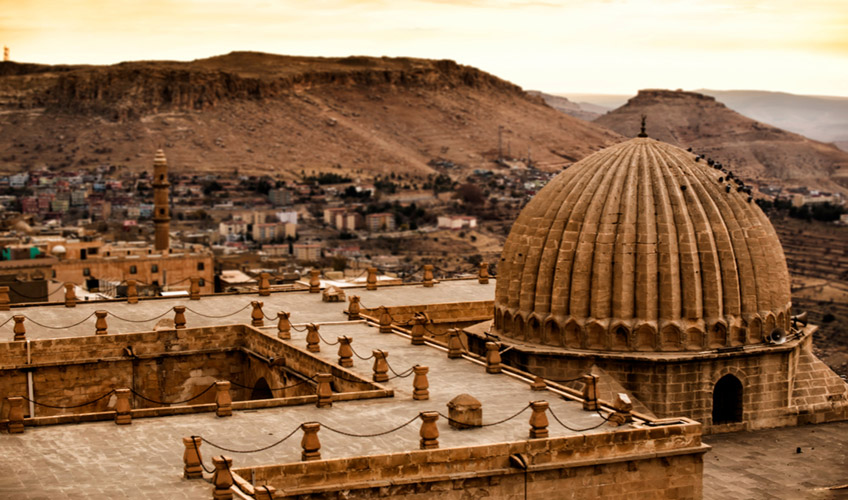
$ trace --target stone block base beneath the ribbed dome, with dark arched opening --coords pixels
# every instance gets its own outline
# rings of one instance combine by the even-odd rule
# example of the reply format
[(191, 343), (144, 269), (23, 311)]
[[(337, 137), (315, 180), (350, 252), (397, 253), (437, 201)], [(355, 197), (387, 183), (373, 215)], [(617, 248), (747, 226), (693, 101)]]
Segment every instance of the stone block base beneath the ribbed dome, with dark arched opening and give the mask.
[[(517, 346), (503, 355), (503, 361), (552, 380), (573, 379), (597, 365), (656, 416), (691, 418), (708, 432), (846, 419), (848, 386), (829, 368), (812, 361), (821, 363), (809, 352), (814, 330), (810, 327), (802, 338), (782, 345), (692, 355), (632, 356)], [(470, 340), (471, 349), (481, 352), (483, 339), (472, 335)], [(803, 380), (796, 381), (796, 374)], [(725, 375), (741, 383), (742, 419), (714, 425), (713, 394)]]

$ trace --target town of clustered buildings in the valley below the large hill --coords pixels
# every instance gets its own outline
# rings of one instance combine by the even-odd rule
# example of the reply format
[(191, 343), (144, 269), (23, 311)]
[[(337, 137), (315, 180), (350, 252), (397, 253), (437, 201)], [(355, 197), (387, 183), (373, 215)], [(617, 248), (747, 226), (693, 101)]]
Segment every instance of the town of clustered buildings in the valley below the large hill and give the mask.
[[(13, 302), (50, 300), (49, 291), (64, 283), (91, 298), (121, 296), (127, 279), (144, 285), (145, 294), (185, 291), (195, 274), (202, 290), (221, 292), (256, 286), (261, 273), (294, 286), (314, 267), (353, 276), (374, 266), (420, 278), (434, 256), (437, 274), (468, 274), (497, 255), (508, 232), (503, 221), (554, 175), (519, 160), (467, 175), (452, 162), (432, 164), (439, 173), (423, 180), (323, 172), (299, 182), (235, 172), (176, 174), (171, 167), (170, 260), (177, 251), (203, 255), (202, 270), (198, 262), (186, 267), (161, 259), (143, 269), (130, 261), (108, 270), (91, 265), (106, 257), (158, 259), (148, 248), (156, 212), (152, 170), (102, 165), (0, 177), (3, 284)], [(432, 242), (430, 252), (425, 241)], [(494, 262), (491, 267), (494, 272)]]

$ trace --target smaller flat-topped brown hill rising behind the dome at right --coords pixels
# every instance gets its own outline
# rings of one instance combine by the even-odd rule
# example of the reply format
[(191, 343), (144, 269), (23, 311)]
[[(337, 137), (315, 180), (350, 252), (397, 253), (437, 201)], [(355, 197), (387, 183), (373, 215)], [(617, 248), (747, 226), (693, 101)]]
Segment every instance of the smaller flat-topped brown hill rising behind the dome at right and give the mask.
[(848, 192), (848, 153), (744, 117), (710, 96), (642, 90), (594, 123), (632, 137), (642, 115), (650, 137), (692, 147), (743, 178)]

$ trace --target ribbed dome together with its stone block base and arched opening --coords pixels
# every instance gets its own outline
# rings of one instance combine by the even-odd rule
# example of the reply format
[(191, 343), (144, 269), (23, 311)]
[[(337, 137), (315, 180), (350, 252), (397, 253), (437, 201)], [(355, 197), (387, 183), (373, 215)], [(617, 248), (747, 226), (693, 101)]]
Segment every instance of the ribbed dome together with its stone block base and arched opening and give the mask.
[(846, 419), (848, 386), (793, 320), (774, 228), (702, 160), (638, 137), (554, 178), (512, 227), (472, 344), (496, 338), (546, 378), (595, 373), (711, 432)]

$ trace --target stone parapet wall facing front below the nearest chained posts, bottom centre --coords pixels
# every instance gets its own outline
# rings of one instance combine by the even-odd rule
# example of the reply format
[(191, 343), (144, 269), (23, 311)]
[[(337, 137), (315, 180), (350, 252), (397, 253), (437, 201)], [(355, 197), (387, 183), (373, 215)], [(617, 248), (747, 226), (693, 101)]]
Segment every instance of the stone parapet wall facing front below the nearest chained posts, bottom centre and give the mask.
[[(463, 448), (416, 450), (235, 469), (278, 496), (347, 498), (524, 498), (525, 475), (510, 460), (524, 455), (528, 497), (700, 498), (699, 424), (534, 439)], [(674, 481), (670, 481), (674, 478)], [(621, 485), (627, 484), (626, 488)]]

